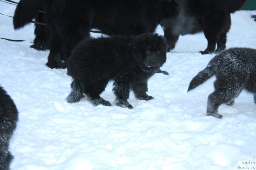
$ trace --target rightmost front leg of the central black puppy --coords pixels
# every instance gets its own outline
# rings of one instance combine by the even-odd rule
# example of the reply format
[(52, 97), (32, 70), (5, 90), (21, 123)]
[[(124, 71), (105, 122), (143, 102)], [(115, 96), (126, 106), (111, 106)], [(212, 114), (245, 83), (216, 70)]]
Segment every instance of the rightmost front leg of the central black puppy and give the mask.
[(154, 99), (152, 96), (148, 96), (146, 92), (148, 91), (147, 81), (136, 82), (132, 84), (132, 90), (134, 91), (135, 97), (139, 100), (151, 100)]

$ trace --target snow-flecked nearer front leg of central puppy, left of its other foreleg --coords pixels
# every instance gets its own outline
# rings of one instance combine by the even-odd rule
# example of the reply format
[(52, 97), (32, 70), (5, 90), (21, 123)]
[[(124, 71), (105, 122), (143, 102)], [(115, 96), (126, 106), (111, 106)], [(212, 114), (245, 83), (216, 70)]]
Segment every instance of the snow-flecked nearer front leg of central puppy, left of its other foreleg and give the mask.
[(130, 81), (116, 79), (114, 81), (113, 86), (113, 92), (116, 95), (116, 106), (127, 107), (129, 109), (132, 109), (132, 105), (130, 105), (129, 102), (127, 101), (130, 93)]

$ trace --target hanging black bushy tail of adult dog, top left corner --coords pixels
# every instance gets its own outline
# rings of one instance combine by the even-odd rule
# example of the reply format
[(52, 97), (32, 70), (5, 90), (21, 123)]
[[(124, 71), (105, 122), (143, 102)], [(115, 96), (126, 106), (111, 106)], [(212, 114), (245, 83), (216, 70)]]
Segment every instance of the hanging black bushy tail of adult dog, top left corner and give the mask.
[(20, 0), (13, 17), (14, 29), (20, 29), (30, 23), (42, 8), (44, 0)]

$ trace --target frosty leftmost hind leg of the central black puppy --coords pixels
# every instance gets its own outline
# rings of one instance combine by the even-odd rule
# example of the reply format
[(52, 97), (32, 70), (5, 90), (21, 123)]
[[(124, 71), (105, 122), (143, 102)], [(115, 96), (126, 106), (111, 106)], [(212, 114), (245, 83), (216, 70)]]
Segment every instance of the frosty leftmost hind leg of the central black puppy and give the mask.
[(84, 90), (82, 84), (80, 84), (78, 80), (73, 79), (73, 82), (71, 83), (71, 88), (71, 92), (66, 98), (66, 101), (68, 103), (79, 102), (84, 97)]

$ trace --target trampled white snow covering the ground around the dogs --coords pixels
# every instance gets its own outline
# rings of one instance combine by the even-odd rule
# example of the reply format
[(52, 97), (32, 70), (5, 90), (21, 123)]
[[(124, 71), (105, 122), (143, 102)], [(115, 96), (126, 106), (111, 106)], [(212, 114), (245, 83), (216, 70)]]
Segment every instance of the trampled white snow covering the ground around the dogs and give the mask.
[[(0, 13), (14, 9), (0, 2)], [(228, 48), (256, 48), (252, 14), (232, 14)], [(131, 92), (134, 109), (115, 106), (112, 82), (101, 95), (112, 106), (95, 107), (86, 98), (68, 104), (71, 77), (66, 69), (45, 66), (49, 51), (29, 47), (33, 25), (14, 31), (12, 19), (1, 15), (0, 37), (26, 40), (0, 39), (0, 84), (19, 110), (11, 170), (256, 169), (253, 95), (242, 92), (233, 106), (221, 105), (223, 118), (216, 119), (206, 116), (215, 78), (187, 93), (190, 80), (214, 57), (198, 53), (207, 45), (203, 34), (180, 37), (162, 67), (170, 75), (150, 78), (154, 100), (137, 100)]]

